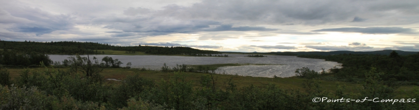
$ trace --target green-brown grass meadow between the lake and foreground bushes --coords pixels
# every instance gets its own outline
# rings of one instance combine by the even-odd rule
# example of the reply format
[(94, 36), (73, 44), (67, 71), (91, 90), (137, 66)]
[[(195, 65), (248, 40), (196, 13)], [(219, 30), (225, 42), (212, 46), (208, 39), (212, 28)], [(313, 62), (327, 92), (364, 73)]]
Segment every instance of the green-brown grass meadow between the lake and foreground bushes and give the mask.
[[(236, 64), (216, 64), (213, 66), (232, 66)], [(68, 68), (56, 68), (67, 70)], [(8, 69), (12, 79), (15, 79), (19, 76), (19, 72), (23, 69)], [(31, 71), (43, 71), (44, 68), (31, 68)], [(48, 68), (48, 70), (53, 70)], [(139, 69), (122, 69), (122, 68), (106, 68), (101, 73), (104, 78), (115, 78), (115, 79), (124, 79), (127, 75), (139, 74), (141, 77), (150, 78), (155, 81), (167, 80), (174, 75), (174, 72), (162, 72), (162, 71), (150, 71), (150, 70), (139, 70)], [(187, 81), (193, 81), (194, 86), (199, 86), (199, 81), (201, 76), (210, 75), (209, 73), (196, 73), (196, 72), (181, 72), (180, 74), (186, 77)], [(239, 75), (226, 75), (226, 74), (213, 74), (216, 86), (223, 87), (229, 78), (232, 78), (232, 81), (235, 82), (238, 88), (248, 87), (254, 85), (256, 87), (265, 87), (268, 84), (275, 84), (282, 89), (300, 89), (303, 90), (304, 78), (298, 77), (286, 77), (286, 78), (269, 78), (269, 77), (252, 77), (252, 76), (239, 76)], [(119, 83), (116, 81), (109, 81), (110, 83)], [(358, 93), (361, 85), (353, 84), (350, 82), (342, 81), (330, 81), (330, 80), (321, 80), (321, 87), (325, 91), (334, 92), (336, 90), (336, 84), (341, 86), (346, 86), (346, 93)], [(418, 92), (418, 86), (401, 86), (397, 89), (397, 95), (399, 97), (406, 97), (414, 92)]]

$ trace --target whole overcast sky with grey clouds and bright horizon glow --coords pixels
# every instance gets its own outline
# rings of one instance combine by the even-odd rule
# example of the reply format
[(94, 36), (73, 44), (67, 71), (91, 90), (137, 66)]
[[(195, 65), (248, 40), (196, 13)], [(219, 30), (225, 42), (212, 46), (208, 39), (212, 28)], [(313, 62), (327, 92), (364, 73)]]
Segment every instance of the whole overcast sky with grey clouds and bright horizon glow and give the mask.
[(238, 52), (419, 51), (417, 0), (0, 0), (0, 39)]

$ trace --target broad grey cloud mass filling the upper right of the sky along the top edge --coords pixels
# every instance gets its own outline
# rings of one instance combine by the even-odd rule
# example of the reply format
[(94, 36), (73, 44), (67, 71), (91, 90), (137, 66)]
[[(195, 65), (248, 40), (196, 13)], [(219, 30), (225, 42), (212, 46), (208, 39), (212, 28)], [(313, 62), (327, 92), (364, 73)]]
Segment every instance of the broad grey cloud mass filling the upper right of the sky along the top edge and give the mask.
[[(403, 7), (408, 6), (408, 7)], [(209, 19), (217, 21), (283, 24), (324, 24), (347, 22), (354, 16), (400, 16), (392, 12), (417, 15), (419, 2), (411, 1), (211, 1), (204, 0), (190, 7), (171, 5), (159, 11), (181, 19)], [(379, 8), (379, 9), (378, 9)], [(211, 10), (208, 10), (211, 9)], [(391, 12), (392, 11), (392, 12)], [(358, 17), (359, 18), (359, 17)], [(399, 17), (397, 17), (399, 18)], [(359, 21), (361, 19), (356, 19)]]

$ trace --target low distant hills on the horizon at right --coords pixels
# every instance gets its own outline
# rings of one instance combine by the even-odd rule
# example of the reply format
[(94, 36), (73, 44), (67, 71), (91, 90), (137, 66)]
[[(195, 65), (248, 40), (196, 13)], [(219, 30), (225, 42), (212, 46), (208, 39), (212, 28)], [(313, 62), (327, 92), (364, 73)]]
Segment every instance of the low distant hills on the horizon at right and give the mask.
[(381, 54), (388, 55), (392, 51), (396, 51), (401, 56), (408, 54), (417, 54), (418, 51), (402, 51), (402, 50), (378, 50), (378, 51), (298, 51), (298, 52), (268, 52), (271, 54), (277, 54), (279, 56), (298, 56), (301, 54), (318, 54), (318, 55), (333, 55), (333, 54)]

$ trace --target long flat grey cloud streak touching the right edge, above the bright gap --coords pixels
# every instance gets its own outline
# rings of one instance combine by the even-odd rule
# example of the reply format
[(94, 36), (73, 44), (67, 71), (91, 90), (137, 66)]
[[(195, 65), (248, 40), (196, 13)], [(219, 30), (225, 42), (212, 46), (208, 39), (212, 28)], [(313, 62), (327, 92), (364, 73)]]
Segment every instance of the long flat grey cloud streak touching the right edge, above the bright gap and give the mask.
[(362, 34), (419, 34), (416, 30), (400, 27), (371, 27), (371, 28), (335, 28), (313, 30), (311, 32), (353, 32)]

